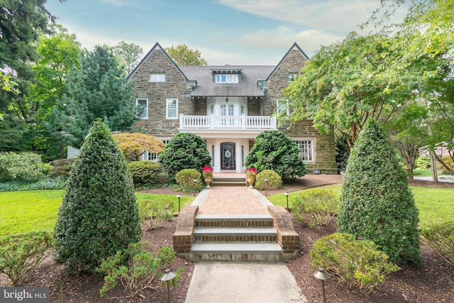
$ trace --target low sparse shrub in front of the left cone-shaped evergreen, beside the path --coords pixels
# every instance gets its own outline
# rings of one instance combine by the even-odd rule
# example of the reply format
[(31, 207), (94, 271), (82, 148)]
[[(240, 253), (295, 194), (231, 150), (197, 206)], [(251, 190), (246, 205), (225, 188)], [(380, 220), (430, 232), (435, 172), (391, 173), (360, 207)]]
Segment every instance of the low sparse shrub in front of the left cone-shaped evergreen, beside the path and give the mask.
[[(153, 282), (161, 275), (164, 266), (172, 264), (175, 251), (163, 246), (153, 255), (146, 250), (148, 245), (148, 242), (131, 243), (127, 250), (118, 250), (115, 255), (102, 261), (97, 268), (97, 271), (104, 275), (104, 286), (99, 292), (101, 297), (114, 289), (118, 280), (128, 290), (128, 297), (133, 297), (146, 289), (157, 288), (153, 286)], [(184, 268), (177, 270), (177, 277), (172, 280), (174, 285), (183, 271)]]

